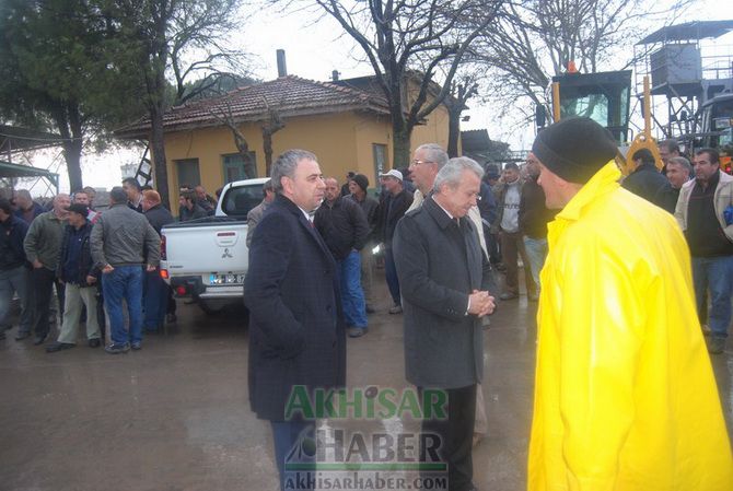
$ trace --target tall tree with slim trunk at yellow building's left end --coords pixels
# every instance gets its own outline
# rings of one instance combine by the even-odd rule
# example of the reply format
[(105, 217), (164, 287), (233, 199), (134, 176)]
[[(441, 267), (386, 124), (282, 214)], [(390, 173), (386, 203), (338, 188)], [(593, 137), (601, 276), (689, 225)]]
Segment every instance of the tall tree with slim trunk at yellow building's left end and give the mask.
[[(100, 0), (110, 25), (118, 30), (118, 57), (127, 72), (141, 77), (142, 96), (151, 122), (151, 150), (155, 161), (155, 185), (164, 204), (170, 204), (163, 116), (216, 83), (222, 65), (231, 69), (238, 56), (228, 49), (228, 34), (238, 27), (236, 12), (242, 0)], [(168, 91), (167, 74), (175, 80)], [(187, 84), (198, 77), (202, 83)]]

